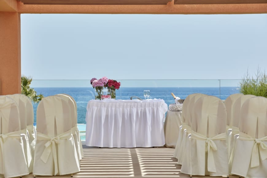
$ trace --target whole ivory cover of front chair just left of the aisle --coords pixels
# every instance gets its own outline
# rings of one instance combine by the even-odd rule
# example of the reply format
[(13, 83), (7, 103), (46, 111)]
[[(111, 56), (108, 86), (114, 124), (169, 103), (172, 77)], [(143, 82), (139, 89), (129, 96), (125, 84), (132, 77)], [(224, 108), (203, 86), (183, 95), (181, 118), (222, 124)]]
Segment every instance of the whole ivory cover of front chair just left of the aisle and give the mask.
[(59, 96), (43, 98), (37, 107), (36, 121), (33, 174), (52, 176), (79, 172), (68, 102)]

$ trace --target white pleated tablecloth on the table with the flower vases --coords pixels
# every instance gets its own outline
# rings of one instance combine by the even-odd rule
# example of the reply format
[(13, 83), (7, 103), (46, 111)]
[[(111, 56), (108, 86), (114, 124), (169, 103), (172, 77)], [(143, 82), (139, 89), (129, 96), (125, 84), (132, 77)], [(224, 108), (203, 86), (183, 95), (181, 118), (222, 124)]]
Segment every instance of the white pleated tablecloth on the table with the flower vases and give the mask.
[(162, 99), (91, 100), (86, 113), (86, 145), (98, 147), (152, 147), (165, 145)]

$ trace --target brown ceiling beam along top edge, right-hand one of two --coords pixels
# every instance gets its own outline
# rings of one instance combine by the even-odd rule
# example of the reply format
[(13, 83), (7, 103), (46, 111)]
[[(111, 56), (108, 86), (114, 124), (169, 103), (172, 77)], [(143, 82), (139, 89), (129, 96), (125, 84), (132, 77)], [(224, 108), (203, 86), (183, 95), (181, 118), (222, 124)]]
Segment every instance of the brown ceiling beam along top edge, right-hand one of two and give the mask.
[(174, 0), (175, 5), (181, 4), (263, 4), (267, 0)]

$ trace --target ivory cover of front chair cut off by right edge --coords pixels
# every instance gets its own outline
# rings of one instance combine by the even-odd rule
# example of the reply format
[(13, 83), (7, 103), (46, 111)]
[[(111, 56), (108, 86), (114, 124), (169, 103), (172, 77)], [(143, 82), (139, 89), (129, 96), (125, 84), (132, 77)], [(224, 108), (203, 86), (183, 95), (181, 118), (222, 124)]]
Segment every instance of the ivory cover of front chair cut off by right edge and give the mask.
[(232, 174), (266, 177), (267, 98), (253, 97), (242, 105), (239, 137), (235, 140), (233, 153)]

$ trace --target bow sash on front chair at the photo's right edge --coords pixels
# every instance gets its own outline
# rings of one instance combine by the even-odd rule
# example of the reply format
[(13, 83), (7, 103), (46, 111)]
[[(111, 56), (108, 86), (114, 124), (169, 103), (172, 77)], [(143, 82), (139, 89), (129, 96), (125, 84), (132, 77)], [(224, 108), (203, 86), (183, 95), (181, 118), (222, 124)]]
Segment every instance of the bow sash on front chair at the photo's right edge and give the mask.
[[(253, 138), (248, 134), (239, 132), (240, 140), (254, 141), (251, 153), (250, 167), (257, 167), (260, 165), (259, 152), (261, 153), (261, 161), (267, 159), (267, 145), (263, 141), (267, 141), (267, 136), (262, 138)], [(259, 144), (259, 146), (258, 146)]]

